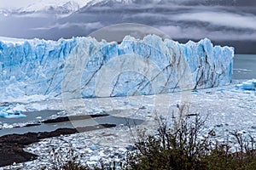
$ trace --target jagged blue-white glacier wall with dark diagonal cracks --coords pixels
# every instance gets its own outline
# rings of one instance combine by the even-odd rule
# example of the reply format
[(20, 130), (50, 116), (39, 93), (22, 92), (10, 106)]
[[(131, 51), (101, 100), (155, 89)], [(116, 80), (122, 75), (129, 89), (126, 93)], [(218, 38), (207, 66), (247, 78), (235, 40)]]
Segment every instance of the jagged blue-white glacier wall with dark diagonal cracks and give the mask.
[(180, 44), (148, 35), (123, 42), (91, 37), (59, 41), (0, 38), (2, 101), (22, 96), (70, 98), (163, 94), (231, 82), (234, 48)]

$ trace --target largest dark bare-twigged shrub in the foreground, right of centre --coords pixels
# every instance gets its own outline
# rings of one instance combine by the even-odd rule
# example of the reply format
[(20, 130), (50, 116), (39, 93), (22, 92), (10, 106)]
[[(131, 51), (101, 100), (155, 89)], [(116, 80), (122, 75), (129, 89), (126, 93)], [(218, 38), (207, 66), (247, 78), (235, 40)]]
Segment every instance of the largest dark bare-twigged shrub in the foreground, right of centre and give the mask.
[(204, 169), (205, 165), (200, 160), (210, 153), (211, 143), (207, 138), (198, 139), (203, 123), (199, 116), (195, 116), (195, 122), (185, 120), (176, 130), (162, 123), (156, 135), (145, 135), (143, 132), (135, 144), (137, 151), (128, 156), (127, 167)]

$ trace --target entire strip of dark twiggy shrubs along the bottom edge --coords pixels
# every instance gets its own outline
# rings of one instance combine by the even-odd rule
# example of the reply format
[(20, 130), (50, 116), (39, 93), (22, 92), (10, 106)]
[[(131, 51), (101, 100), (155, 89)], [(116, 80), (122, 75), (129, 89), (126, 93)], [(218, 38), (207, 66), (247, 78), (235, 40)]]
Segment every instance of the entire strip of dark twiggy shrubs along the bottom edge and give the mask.
[[(253, 170), (256, 169), (256, 150), (253, 137), (249, 139), (241, 133), (233, 132), (230, 135), (238, 144), (236, 151), (230, 141), (218, 143), (212, 141), (216, 134), (210, 131), (204, 137), (201, 129), (206, 120), (201, 120), (197, 114), (183, 114), (184, 105), (177, 105), (180, 117), (184, 120), (173, 121), (174, 127), (168, 127), (166, 122), (160, 119), (160, 127), (156, 134), (146, 134), (146, 130), (138, 131), (134, 144), (135, 150), (127, 154), (125, 163), (119, 168), (110, 167), (100, 161), (101, 167), (97, 170), (115, 169), (161, 169), (161, 170)], [(194, 117), (194, 118), (191, 118)], [(79, 156), (73, 150), (63, 160), (58, 154), (54, 154), (54, 170), (84, 170), (90, 169), (81, 165)]]

